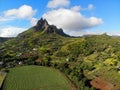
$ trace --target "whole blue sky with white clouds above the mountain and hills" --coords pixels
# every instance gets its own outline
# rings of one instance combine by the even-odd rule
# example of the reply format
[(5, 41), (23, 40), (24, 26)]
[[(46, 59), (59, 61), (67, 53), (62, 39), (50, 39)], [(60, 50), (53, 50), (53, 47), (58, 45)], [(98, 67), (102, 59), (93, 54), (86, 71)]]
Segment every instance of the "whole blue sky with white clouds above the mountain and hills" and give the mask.
[(120, 35), (120, 0), (0, 0), (0, 37), (16, 37), (43, 17), (72, 36)]

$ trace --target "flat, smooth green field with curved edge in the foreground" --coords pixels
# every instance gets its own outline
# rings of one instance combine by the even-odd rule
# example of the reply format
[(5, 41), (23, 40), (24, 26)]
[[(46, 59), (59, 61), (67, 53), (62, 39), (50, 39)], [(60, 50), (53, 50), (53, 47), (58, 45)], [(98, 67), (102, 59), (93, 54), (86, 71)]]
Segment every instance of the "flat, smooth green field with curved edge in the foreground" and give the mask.
[(41, 66), (23, 66), (9, 70), (3, 90), (72, 90), (59, 71)]

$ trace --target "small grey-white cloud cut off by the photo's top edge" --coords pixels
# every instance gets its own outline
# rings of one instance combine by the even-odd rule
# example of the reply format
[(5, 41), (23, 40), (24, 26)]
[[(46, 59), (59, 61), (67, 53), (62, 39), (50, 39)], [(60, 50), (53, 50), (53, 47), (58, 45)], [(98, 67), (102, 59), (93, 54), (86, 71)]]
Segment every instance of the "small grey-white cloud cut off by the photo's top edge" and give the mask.
[(69, 0), (50, 0), (47, 4), (48, 8), (58, 8), (58, 7), (65, 7), (69, 6)]

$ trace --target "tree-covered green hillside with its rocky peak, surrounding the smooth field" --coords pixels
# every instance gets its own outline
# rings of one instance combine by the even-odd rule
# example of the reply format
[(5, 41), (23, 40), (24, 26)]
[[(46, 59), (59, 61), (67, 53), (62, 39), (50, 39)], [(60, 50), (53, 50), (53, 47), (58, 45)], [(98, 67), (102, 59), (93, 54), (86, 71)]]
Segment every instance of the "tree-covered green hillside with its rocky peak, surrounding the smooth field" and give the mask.
[(107, 83), (106, 87), (111, 85), (110, 89), (120, 89), (120, 37), (106, 34), (70, 37), (40, 20), (37, 26), (1, 47), (3, 67), (15, 67), (19, 62), (54, 67), (79, 90), (94, 90), (93, 86), (103, 89), (101, 81), (100, 87), (92, 83), (98, 78)]

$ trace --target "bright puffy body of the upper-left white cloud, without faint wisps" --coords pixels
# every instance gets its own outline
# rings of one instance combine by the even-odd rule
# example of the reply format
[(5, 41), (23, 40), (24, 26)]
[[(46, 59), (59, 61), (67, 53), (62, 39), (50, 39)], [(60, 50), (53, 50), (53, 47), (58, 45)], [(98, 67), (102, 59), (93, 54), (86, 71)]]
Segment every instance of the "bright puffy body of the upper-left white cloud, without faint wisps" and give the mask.
[(10, 9), (10, 10), (4, 11), (4, 15), (6, 17), (29, 19), (33, 17), (35, 12), (36, 10), (33, 10), (31, 6), (23, 5), (19, 7), (18, 9)]

